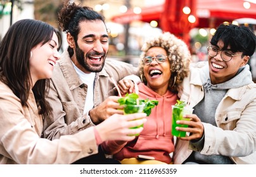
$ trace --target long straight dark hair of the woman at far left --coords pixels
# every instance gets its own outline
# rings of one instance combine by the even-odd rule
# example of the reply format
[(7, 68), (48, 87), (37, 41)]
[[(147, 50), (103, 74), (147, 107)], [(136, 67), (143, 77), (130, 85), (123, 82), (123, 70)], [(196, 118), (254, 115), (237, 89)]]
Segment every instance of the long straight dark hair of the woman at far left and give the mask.
[[(48, 23), (32, 19), (19, 20), (11, 25), (0, 43), (0, 80), (10, 87), (22, 106), (28, 106), (27, 100), (32, 89), (30, 52), (38, 44), (49, 42), (54, 32), (61, 44), (60, 34)], [(48, 81), (38, 80), (32, 89), (39, 114), (48, 111), (49, 106), (44, 97)]]

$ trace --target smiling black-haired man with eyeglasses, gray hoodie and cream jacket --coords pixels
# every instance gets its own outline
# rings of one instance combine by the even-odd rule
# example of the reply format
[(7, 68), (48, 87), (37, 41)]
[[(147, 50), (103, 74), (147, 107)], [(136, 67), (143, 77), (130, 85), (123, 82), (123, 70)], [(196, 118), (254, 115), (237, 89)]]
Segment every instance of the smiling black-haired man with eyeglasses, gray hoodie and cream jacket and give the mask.
[(181, 100), (188, 102), (188, 136), (176, 144), (174, 164), (256, 164), (256, 84), (247, 64), (256, 37), (222, 24), (208, 47), (208, 65), (191, 68)]

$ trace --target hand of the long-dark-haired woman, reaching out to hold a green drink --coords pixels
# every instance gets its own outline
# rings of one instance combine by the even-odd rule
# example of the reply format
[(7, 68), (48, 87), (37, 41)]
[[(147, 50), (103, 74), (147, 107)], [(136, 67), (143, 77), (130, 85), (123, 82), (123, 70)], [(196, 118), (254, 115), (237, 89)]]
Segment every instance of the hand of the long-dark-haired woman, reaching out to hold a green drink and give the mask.
[(122, 140), (131, 141), (135, 134), (141, 133), (140, 128), (132, 128), (146, 123), (145, 113), (136, 114), (113, 114), (108, 119), (97, 125), (95, 128), (101, 137), (101, 140)]

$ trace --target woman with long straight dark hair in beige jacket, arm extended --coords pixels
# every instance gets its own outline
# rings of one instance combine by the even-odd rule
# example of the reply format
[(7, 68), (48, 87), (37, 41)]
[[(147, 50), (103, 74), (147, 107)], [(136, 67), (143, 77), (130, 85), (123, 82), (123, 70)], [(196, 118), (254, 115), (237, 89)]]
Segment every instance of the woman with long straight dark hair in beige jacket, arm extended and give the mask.
[(132, 140), (143, 130), (130, 128), (146, 114), (114, 114), (59, 140), (41, 138), (42, 114), (50, 114), (44, 93), (60, 46), (51, 25), (29, 19), (14, 23), (0, 43), (0, 164), (70, 164), (98, 153), (106, 140)]

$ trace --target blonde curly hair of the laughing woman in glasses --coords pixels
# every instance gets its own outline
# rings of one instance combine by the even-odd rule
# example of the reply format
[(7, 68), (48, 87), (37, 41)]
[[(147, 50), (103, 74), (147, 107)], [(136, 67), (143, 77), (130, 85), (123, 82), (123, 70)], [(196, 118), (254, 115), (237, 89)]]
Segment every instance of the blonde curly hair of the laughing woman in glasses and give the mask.
[(141, 61), (139, 62), (139, 75), (145, 85), (147, 84), (147, 81), (143, 71), (143, 58), (151, 47), (162, 47), (167, 51), (167, 57), (170, 62), (170, 71), (172, 74), (169, 80), (169, 89), (172, 92), (177, 92), (182, 80), (189, 74), (191, 54), (188, 46), (181, 39), (178, 39), (175, 35), (170, 34), (169, 32), (165, 32), (146, 40), (141, 48)]

